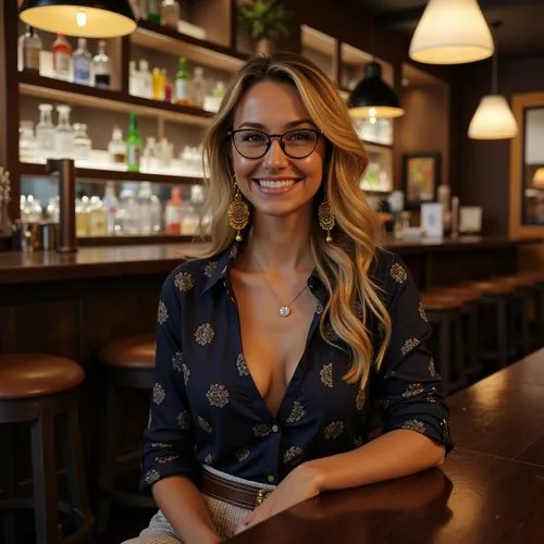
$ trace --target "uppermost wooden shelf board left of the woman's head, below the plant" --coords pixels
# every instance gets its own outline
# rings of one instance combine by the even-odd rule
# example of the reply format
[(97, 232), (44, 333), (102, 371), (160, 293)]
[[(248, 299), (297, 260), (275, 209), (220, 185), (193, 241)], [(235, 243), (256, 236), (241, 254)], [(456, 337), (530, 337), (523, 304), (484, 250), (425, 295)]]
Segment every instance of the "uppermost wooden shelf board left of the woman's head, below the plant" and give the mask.
[(249, 58), (227, 47), (201, 40), (164, 26), (140, 21), (131, 42), (163, 53), (186, 57), (190, 61), (225, 72), (237, 72)]

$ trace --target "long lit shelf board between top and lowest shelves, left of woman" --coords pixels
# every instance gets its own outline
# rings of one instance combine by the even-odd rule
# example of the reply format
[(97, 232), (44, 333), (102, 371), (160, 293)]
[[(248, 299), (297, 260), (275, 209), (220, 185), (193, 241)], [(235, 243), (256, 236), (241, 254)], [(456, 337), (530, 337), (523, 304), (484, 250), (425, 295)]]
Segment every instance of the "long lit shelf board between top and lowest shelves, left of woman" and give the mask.
[(50, 100), (53, 103), (62, 102), (122, 113), (137, 113), (141, 116), (198, 126), (208, 126), (213, 116), (213, 113), (199, 108), (148, 100), (119, 90), (97, 89), (76, 83), (42, 77), (29, 72), (20, 73), (18, 88), (24, 96)]

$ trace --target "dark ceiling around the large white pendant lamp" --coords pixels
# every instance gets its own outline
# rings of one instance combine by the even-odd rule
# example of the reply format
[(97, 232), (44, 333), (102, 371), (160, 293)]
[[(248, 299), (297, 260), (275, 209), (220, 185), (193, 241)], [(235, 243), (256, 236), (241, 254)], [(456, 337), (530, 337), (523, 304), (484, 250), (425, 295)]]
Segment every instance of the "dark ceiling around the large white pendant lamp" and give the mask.
[[(454, 0), (452, 0), (454, 1)], [(411, 35), (425, 0), (351, 0), (378, 17), (379, 26)], [(544, 0), (479, 0), (487, 22), (502, 21), (496, 30), (504, 57), (544, 55)]]

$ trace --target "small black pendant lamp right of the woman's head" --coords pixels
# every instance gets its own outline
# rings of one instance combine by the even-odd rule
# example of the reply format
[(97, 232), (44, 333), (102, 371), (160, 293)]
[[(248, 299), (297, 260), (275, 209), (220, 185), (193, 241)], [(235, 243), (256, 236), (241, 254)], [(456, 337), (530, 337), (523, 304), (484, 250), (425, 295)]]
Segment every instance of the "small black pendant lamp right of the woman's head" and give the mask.
[(397, 94), (382, 79), (382, 65), (370, 62), (364, 67), (364, 76), (351, 91), (347, 106), (349, 115), (357, 119), (404, 115)]

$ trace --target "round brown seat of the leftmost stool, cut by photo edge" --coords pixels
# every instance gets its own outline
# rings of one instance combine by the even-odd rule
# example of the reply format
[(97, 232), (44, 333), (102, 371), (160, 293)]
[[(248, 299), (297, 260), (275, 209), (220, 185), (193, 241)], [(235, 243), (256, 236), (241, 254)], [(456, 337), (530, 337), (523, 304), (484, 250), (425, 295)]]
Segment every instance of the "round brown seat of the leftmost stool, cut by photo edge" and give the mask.
[(54, 395), (77, 387), (85, 373), (75, 361), (44, 354), (0, 354), (0, 399)]

